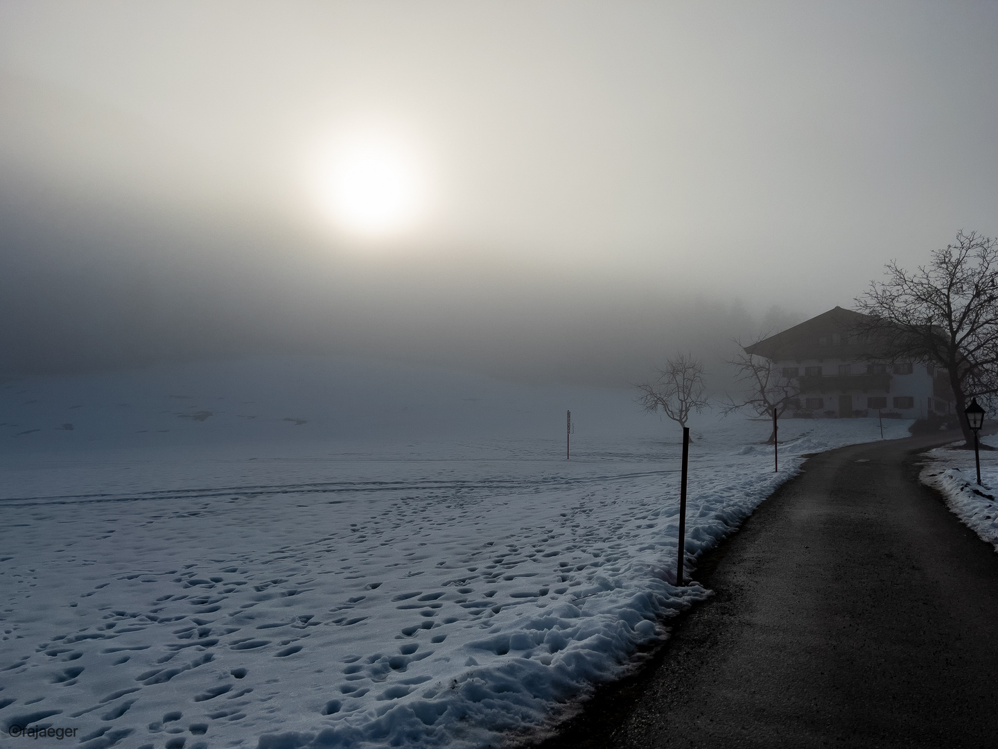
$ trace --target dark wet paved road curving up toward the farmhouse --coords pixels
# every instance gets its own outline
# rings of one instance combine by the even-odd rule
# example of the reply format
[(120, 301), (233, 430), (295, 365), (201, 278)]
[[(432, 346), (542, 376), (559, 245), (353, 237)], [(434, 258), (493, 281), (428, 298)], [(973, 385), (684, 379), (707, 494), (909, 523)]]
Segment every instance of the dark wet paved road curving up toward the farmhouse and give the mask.
[(543, 749), (998, 747), (998, 554), (917, 482), (938, 441), (810, 458), (704, 560), (717, 595)]

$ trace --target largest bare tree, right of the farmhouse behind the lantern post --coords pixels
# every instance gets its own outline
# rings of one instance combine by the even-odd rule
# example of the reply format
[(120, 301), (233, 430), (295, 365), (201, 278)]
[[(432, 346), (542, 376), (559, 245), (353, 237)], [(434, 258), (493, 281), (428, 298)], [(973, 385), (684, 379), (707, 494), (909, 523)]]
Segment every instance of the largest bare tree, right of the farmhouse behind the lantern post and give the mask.
[(946, 371), (969, 445), (967, 401), (993, 401), (998, 392), (998, 242), (961, 231), (926, 266), (909, 272), (891, 261), (885, 268), (886, 281), (870, 282), (856, 299), (870, 316), (864, 333), (892, 362), (927, 362)]

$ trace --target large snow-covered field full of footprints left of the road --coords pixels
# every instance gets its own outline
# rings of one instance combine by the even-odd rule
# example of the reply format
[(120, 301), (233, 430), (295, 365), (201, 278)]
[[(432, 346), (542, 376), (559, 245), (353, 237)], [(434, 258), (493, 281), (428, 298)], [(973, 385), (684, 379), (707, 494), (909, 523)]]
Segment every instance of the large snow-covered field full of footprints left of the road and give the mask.
[[(513, 743), (709, 595), (673, 584), (679, 429), (627, 391), (299, 358), (0, 393), (4, 731)], [(688, 570), (802, 454), (879, 438), (784, 421), (774, 474), (768, 430), (694, 424)]]

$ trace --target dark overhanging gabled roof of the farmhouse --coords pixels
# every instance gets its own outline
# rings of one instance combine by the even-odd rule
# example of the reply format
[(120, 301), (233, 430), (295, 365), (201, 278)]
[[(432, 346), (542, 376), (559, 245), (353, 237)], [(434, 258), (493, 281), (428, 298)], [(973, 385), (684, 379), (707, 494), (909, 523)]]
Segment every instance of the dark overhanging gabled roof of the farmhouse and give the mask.
[(863, 324), (868, 326), (870, 320), (867, 315), (836, 307), (747, 346), (746, 353), (772, 361), (797, 362), (869, 357), (875, 354), (875, 347), (868, 343), (869, 337), (859, 336), (857, 329)]

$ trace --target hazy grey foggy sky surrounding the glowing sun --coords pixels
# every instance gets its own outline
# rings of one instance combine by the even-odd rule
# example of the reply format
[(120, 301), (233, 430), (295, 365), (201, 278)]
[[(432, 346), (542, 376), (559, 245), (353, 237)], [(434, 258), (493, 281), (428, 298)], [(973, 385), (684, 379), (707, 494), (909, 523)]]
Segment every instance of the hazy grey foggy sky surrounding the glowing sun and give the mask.
[[(633, 381), (998, 234), (996, 127), (993, 2), (4, 0), (2, 369)], [(356, 142), (415, 196), (376, 236)]]

